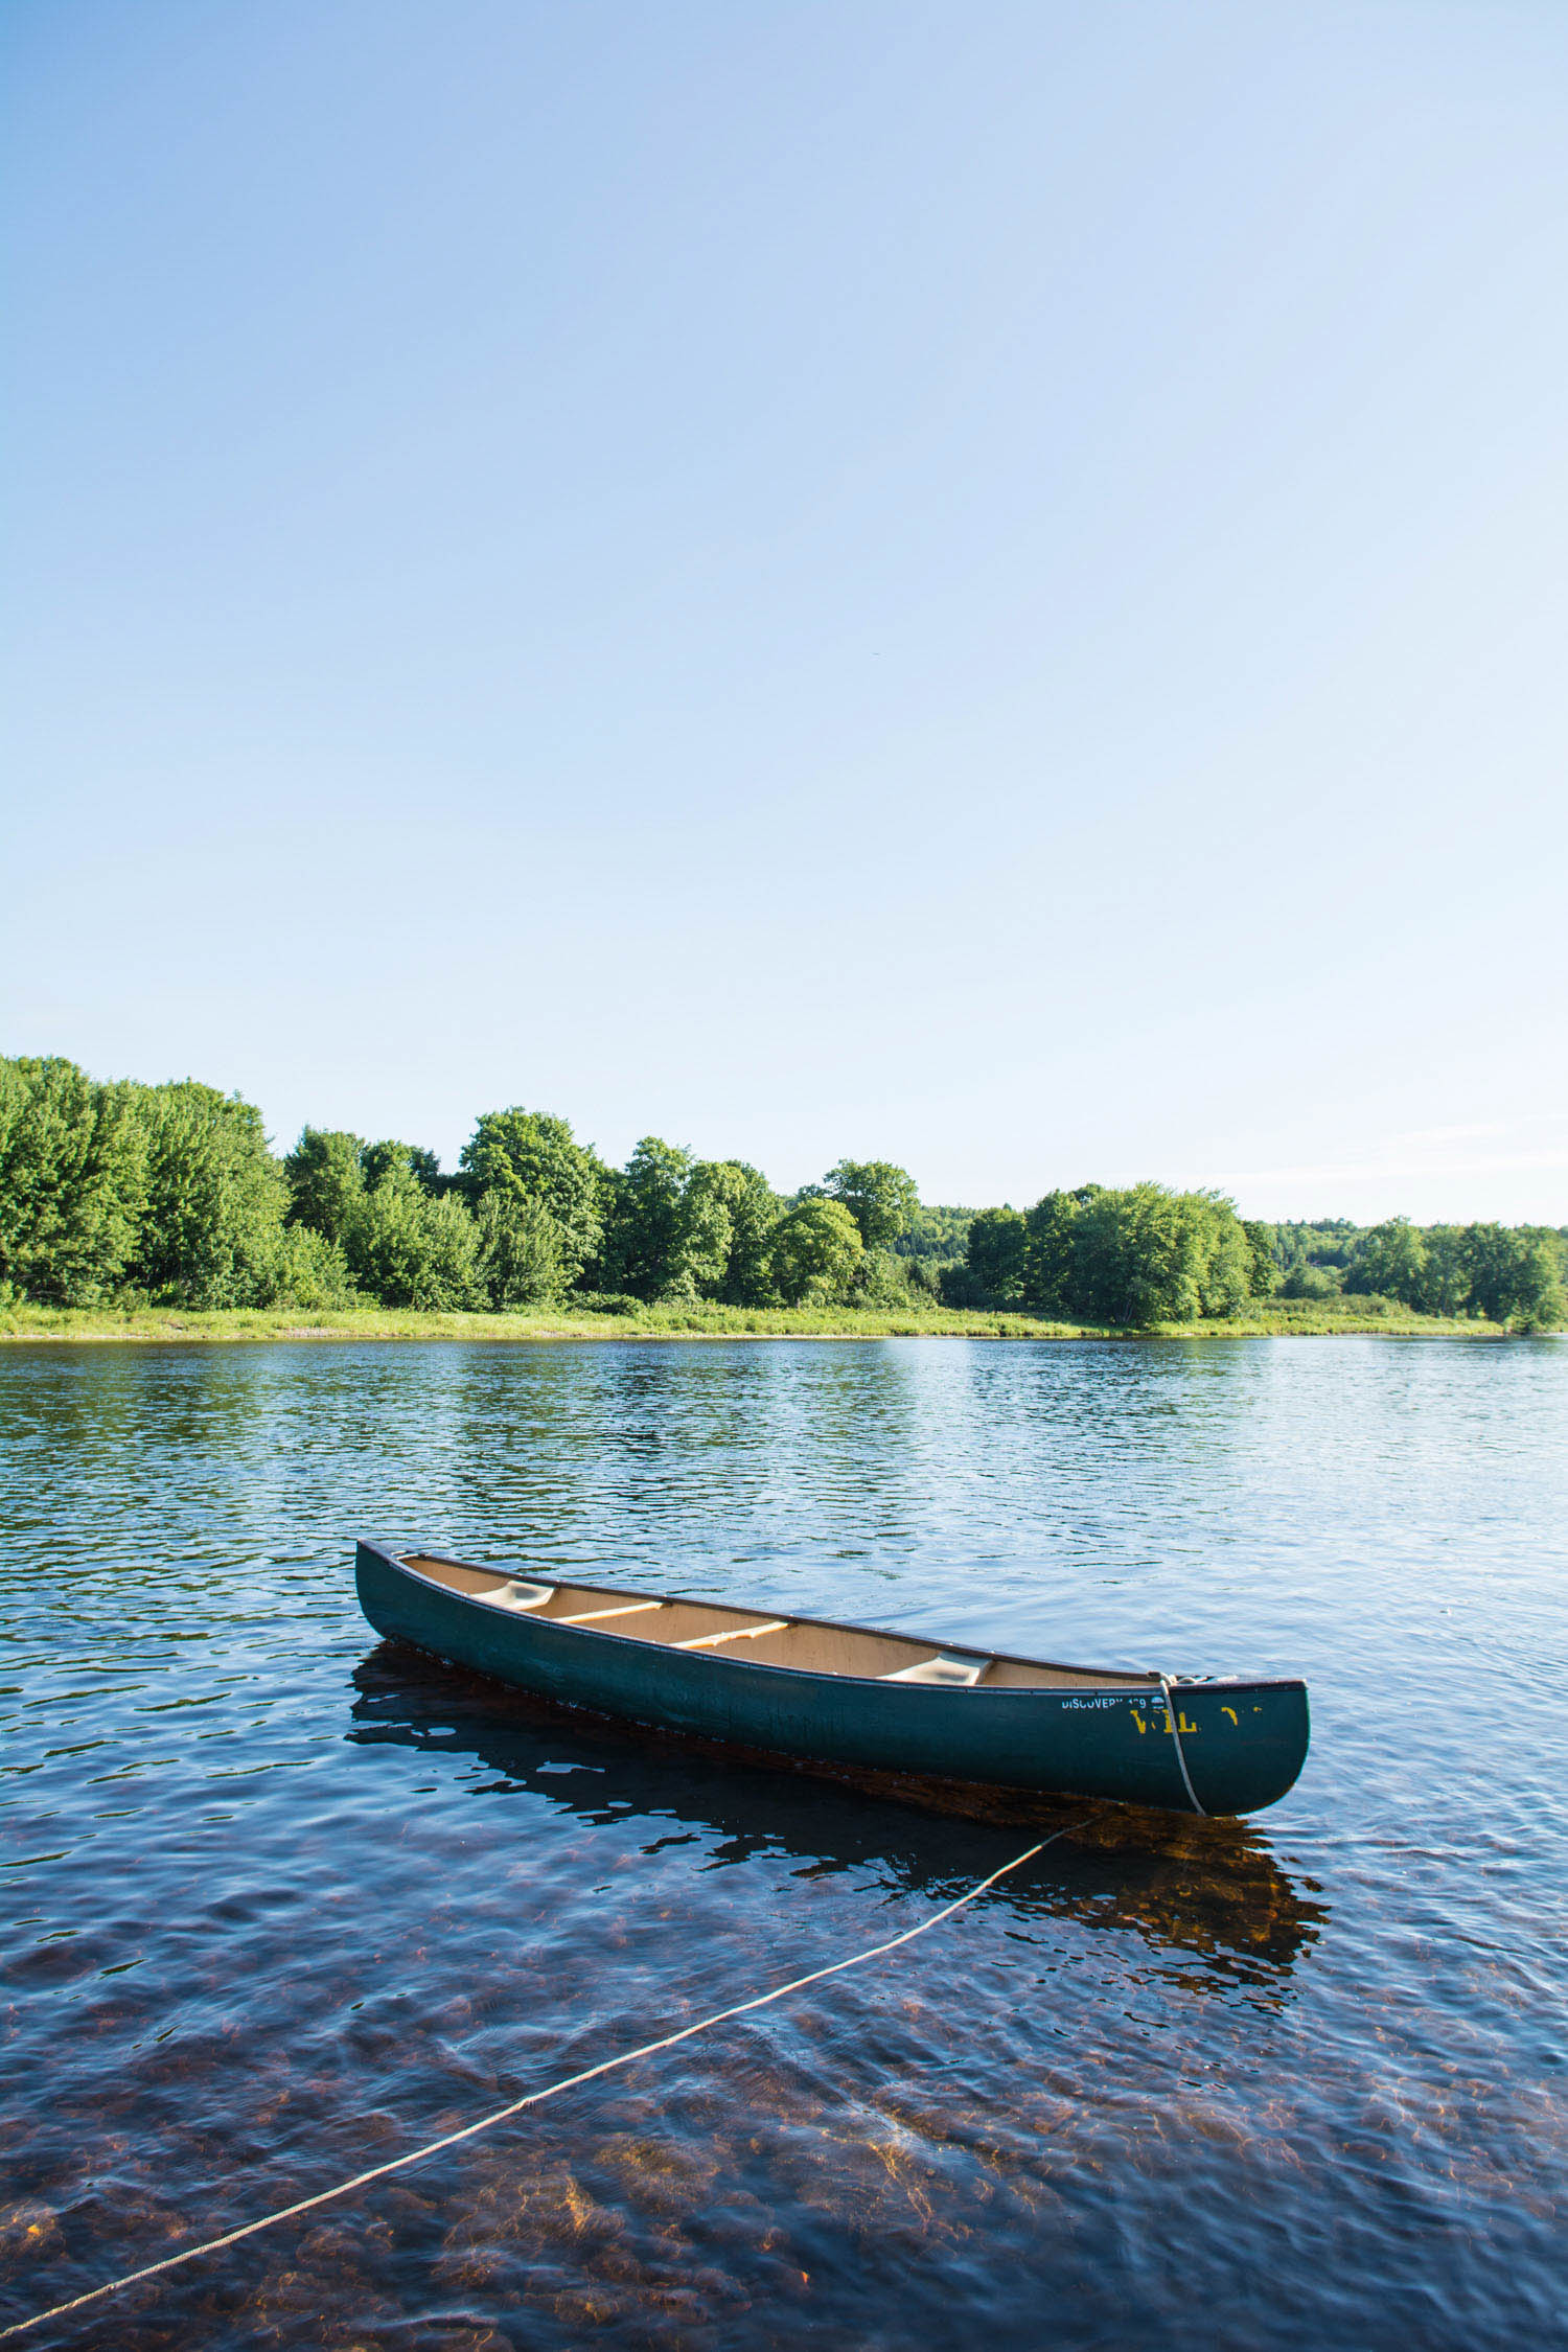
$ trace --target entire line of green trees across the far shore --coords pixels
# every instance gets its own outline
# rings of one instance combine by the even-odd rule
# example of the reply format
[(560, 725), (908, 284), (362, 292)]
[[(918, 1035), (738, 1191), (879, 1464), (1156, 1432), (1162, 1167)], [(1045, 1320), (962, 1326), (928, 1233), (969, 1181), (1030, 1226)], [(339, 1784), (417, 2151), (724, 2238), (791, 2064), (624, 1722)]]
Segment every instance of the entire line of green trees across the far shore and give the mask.
[(1147, 1329), (1276, 1291), (1544, 1329), (1549, 1228), (1244, 1223), (1213, 1192), (1081, 1185), (1032, 1209), (924, 1207), (886, 1160), (776, 1192), (743, 1160), (644, 1136), (625, 1167), (567, 1120), (489, 1110), (435, 1152), (306, 1127), (284, 1157), (240, 1096), (0, 1058), (0, 1303), (510, 1310), (571, 1298), (1023, 1310)]

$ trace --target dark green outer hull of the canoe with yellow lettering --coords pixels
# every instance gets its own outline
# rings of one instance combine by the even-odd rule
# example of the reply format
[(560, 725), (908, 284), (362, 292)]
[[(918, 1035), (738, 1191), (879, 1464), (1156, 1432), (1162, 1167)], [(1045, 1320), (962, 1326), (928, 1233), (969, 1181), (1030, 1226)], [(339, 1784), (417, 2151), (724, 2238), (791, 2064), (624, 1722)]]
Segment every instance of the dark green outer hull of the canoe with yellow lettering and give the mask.
[(1159, 1693), (933, 1689), (712, 1651), (693, 1656), (588, 1625), (510, 1616), (367, 1541), (357, 1545), (355, 1573), (364, 1616), (390, 1642), (564, 1705), (780, 1757), (1180, 1813), (1192, 1811), (1182, 1757), (1204, 1813), (1276, 1804), (1307, 1757), (1302, 1682), (1178, 1684), (1178, 1755)]

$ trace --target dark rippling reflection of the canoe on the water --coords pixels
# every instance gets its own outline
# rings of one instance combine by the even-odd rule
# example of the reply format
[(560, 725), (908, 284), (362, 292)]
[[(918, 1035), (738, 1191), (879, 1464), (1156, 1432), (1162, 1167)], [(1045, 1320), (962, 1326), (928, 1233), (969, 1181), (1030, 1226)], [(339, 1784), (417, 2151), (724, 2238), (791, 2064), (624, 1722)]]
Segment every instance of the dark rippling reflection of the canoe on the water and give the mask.
[[(484, 1795), (548, 1799), (588, 1828), (644, 1816), (651, 1844), (717, 1839), (708, 1867), (795, 1856), (804, 1875), (877, 1867), (893, 1896), (952, 1900), (1027, 1844), (1067, 1828), (1048, 1856), (983, 1900), (1020, 1924), (1126, 1929), (1204, 1962), (1215, 1985), (1279, 1990), (1326, 1907), (1241, 1820), (1192, 1820), (969, 1783), (750, 1759), (689, 1733), (623, 1729), (383, 1642), (355, 1670), (355, 1743), (395, 1743), (496, 1773)], [(480, 1792), (480, 1790), (475, 1790)], [(900, 1922), (903, 1924), (903, 1922)]]

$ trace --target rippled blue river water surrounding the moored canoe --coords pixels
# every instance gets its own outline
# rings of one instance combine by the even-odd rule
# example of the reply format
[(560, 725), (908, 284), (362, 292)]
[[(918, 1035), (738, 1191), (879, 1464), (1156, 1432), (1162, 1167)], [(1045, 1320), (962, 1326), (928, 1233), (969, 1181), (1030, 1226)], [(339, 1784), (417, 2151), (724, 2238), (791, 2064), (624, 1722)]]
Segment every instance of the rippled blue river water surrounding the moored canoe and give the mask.
[(360, 1526), (1314, 1705), (1248, 1828), (1103, 1816), (26, 2343), (1568, 2340), (1568, 1348), (9, 1348), (0, 1449), (5, 2319), (1039, 1835), (383, 1649)]

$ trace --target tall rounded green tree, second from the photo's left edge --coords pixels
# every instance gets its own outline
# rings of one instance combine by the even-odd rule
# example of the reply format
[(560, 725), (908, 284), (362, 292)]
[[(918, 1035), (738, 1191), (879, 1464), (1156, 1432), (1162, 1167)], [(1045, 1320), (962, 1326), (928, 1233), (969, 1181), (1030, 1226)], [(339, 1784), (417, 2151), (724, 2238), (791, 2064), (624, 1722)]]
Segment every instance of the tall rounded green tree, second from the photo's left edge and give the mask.
[(261, 1112), (200, 1080), (136, 1089), (146, 1192), (127, 1279), (190, 1308), (261, 1305), (289, 1190)]

